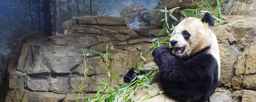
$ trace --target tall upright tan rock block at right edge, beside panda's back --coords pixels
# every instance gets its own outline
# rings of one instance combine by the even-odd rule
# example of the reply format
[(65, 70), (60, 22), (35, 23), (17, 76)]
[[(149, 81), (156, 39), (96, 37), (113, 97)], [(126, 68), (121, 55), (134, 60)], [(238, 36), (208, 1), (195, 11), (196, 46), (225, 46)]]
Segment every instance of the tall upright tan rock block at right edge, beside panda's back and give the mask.
[(246, 68), (244, 71), (245, 75), (255, 74), (256, 73), (256, 65), (255, 65), (255, 58), (256, 58), (256, 45), (251, 45), (248, 50), (248, 56), (246, 59)]

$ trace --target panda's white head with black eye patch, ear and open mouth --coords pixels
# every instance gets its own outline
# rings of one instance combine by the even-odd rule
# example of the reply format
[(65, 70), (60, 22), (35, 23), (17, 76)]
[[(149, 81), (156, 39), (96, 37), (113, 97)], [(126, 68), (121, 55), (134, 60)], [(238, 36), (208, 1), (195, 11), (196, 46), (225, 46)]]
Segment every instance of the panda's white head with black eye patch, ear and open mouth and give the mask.
[(209, 26), (214, 26), (214, 18), (209, 13), (205, 13), (202, 19), (188, 17), (181, 20), (170, 39), (173, 54), (185, 58), (211, 46)]

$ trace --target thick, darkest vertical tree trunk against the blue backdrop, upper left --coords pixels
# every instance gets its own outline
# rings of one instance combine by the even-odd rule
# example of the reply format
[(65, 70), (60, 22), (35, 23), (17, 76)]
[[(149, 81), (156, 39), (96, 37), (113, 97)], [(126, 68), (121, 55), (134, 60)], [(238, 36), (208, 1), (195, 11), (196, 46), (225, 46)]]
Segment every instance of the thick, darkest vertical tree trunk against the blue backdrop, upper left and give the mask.
[(51, 0), (43, 1), (44, 13), (44, 31), (48, 36), (52, 36), (52, 23), (51, 23)]

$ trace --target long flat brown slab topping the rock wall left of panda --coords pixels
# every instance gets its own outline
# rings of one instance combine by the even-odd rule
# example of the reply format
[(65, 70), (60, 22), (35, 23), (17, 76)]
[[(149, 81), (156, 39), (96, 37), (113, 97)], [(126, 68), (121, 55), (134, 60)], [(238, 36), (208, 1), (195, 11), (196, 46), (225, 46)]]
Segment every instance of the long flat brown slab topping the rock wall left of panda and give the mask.
[(115, 17), (85, 16), (72, 19), (72, 25), (126, 26), (125, 20)]

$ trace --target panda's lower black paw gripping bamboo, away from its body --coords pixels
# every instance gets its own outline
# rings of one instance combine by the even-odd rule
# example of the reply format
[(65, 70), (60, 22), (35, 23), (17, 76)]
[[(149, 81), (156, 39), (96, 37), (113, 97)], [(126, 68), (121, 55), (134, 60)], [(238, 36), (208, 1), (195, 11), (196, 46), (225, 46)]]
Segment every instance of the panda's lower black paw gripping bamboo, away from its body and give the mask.
[(131, 82), (132, 79), (134, 79), (136, 76), (142, 75), (142, 74), (147, 74), (148, 72), (150, 72), (151, 70), (140, 70), (139, 72), (137, 72), (136, 68), (132, 68), (128, 73), (126, 73), (126, 75), (124, 76), (124, 81), (127, 82)]

